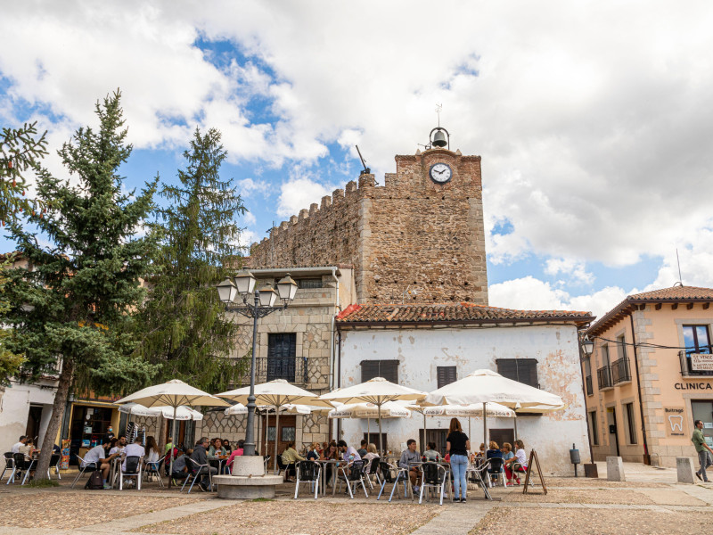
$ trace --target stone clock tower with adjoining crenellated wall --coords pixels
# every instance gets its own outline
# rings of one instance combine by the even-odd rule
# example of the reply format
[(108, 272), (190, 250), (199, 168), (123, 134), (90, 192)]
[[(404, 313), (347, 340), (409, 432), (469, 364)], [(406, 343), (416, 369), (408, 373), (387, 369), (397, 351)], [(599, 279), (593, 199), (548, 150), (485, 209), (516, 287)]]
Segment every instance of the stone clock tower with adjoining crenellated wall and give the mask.
[[(363, 174), (253, 244), (251, 268), (351, 264), (361, 303), (488, 304), (480, 157), (433, 148)], [(406, 289), (416, 294), (406, 293)]]

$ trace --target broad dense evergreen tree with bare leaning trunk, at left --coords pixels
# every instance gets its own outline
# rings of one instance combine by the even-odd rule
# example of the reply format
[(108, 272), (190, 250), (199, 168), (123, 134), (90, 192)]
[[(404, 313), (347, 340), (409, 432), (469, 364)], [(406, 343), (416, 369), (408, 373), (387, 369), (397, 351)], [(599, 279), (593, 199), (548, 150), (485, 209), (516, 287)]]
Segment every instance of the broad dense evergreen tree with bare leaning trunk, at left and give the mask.
[(9, 349), (26, 360), (20, 378), (59, 374), (53, 412), (42, 443), (37, 478), (45, 478), (55, 437), (70, 391), (98, 394), (135, 390), (152, 378), (152, 366), (135, 357), (130, 312), (144, 290), (152, 237), (136, 232), (148, 217), (159, 178), (139, 194), (122, 190), (119, 166), (127, 161), (119, 92), (96, 104), (100, 126), (79, 128), (59, 154), (72, 181), (37, 173), (37, 197), (47, 205), (45, 217), (28, 222), (48, 238), (11, 225), (24, 268), (8, 269), (6, 285), (12, 309)]

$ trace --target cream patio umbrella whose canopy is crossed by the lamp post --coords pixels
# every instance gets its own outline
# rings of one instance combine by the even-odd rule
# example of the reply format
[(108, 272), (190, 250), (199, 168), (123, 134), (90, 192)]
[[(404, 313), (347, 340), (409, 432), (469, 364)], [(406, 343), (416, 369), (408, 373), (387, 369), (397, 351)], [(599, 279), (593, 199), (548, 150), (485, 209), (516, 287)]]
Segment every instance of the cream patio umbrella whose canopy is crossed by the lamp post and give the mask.
[[(226, 391), (217, 396), (231, 399), (238, 403), (248, 403), (250, 396), (250, 386)], [(275, 379), (267, 383), (255, 385), (255, 402), (258, 406), (274, 407), (277, 411), (275, 416), (275, 473), (277, 472), (277, 433), (280, 429), (280, 412), (277, 410), (285, 405), (313, 405), (316, 407), (332, 407), (329, 403), (321, 401), (319, 397), (304, 389), (288, 383), (284, 379)]]

